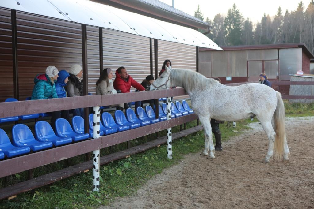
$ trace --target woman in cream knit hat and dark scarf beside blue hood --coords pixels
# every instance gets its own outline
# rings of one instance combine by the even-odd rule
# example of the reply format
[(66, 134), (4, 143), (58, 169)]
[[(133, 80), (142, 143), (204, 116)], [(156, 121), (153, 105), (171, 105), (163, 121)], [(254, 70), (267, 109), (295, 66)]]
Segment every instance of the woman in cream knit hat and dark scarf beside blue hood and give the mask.
[[(83, 96), (83, 69), (80, 65), (75, 64), (70, 67), (70, 76), (67, 85), (67, 96)], [(73, 116), (84, 117), (84, 108), (73, 109)]]

